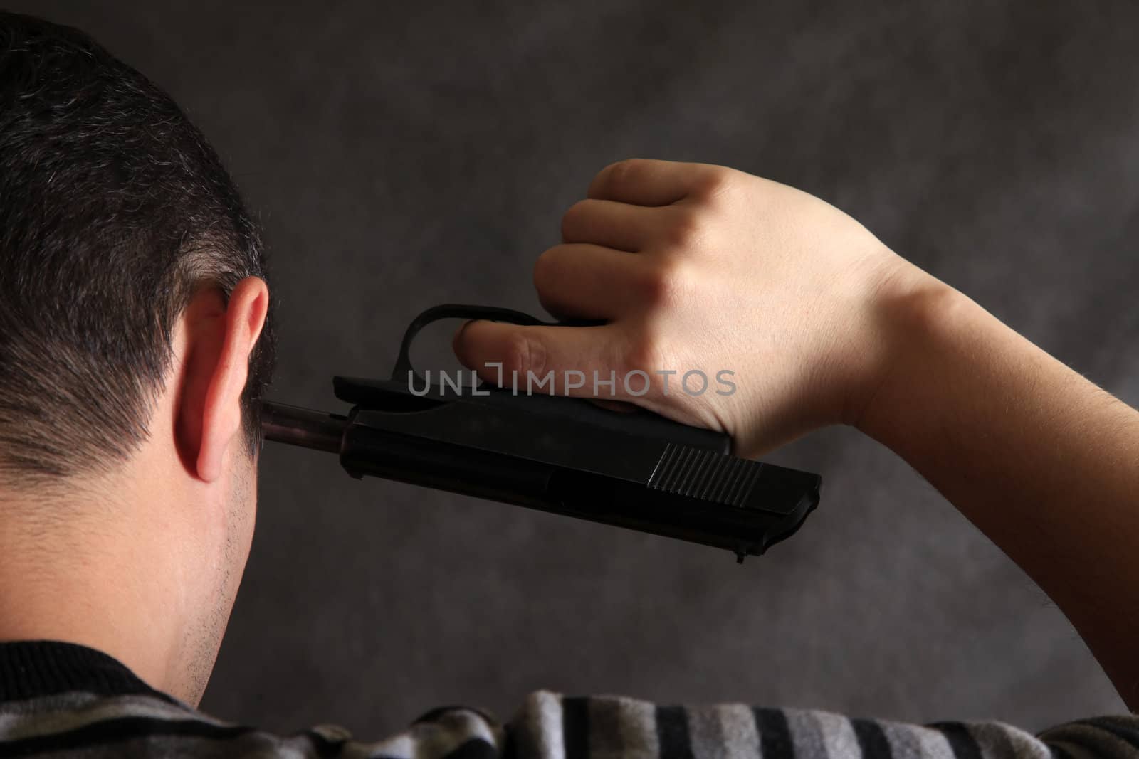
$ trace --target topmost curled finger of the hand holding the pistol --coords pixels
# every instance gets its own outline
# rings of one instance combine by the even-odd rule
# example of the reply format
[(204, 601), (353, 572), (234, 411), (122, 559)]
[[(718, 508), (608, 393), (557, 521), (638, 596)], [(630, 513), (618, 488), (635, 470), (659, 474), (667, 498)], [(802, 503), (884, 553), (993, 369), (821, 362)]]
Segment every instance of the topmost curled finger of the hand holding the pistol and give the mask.
[(628, 158), (609, 164), (589, 183), (587, 197), (638, 206), (667, 206), (703, 195), (720, 181), (724, 168), (653, 158)]

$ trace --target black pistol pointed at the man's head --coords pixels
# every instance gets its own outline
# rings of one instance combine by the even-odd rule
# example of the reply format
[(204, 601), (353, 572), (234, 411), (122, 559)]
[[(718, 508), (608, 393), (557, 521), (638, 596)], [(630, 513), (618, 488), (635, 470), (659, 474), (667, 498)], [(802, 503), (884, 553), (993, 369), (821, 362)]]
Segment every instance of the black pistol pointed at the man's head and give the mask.
[[(727, 435), (638, 409), (426, 383), (416, 333), (440, 319), (550, 324), (506, 308), (441, 305), (408, 327), (390, 380), (334, 377), (346, 415), (264, 402), (265, 439), (339, 455), (364, 475), (628, 527), (732, 551), (789, 537), (819, 503), (818, 475), (730, 455)], [(598, 322), (589, 322), (598, 323)]]

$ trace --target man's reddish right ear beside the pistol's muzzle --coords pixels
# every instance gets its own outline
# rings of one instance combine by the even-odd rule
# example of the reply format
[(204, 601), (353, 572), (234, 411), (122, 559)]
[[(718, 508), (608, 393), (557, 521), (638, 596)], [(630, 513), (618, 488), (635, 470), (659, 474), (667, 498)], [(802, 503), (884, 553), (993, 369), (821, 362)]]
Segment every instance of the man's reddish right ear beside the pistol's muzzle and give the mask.
[(186, 357), (174, 434), (183, 464), (203, 481), (216, 480), (227, 451), (244, 445), (241, 395), (268, 310), (264, 280), (247, 277), (228, 305), (219, 290), (203, 289), (183, 312)]

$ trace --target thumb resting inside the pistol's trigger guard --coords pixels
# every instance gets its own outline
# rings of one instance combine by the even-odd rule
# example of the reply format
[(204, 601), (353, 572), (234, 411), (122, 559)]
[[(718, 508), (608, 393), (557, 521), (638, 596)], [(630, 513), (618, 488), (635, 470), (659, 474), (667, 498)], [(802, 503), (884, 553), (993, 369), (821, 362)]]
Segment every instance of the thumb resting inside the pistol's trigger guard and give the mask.
[[(618, 352), (612, 324), (530, 327), (476, 320), (454, 333), (452, 347), (464, 366), (491, 385), (518, 393), (618, 398)], [(595, 377), (599, 381), (595, 381)]]

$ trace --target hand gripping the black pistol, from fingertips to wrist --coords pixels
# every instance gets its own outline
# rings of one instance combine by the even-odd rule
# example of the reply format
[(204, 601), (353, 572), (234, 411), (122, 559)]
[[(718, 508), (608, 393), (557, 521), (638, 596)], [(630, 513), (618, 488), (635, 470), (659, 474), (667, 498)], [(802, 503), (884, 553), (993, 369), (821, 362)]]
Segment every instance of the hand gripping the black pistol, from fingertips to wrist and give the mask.
[(608, 323), (468, 322), (459, 360), (519, 391), (552, 371), (558, 395), (723, 431), (744, 456), (855, 423), (898, 347), (895, 305), (936, 283), (827, 203), (708, 164), (606, 166), (562, 237), (534, 266), (542, 306)]

